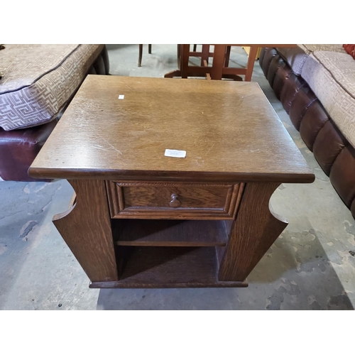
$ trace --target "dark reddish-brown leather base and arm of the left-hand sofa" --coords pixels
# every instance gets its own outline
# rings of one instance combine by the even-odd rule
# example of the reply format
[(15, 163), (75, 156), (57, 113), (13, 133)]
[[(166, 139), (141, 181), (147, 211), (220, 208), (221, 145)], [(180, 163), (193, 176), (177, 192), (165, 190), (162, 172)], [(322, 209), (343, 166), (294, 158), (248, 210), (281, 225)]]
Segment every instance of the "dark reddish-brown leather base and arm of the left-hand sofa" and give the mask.
[[(87, 74), (108, 75), (109, 57), (107, 48), (105, 45), (100, 45), (98, 49), (94, 55), (89, 57), (89, 62), (85, 63), (84, 67), (89, 67)], [(28, 168), (79, 87), (80, 84), (62, 106), (60, 112), (55, 114), (54, 119), (24, 129), (5, 131), (0, 127), (0, 178), (2, 180), (35, 181), (28, 175)]]

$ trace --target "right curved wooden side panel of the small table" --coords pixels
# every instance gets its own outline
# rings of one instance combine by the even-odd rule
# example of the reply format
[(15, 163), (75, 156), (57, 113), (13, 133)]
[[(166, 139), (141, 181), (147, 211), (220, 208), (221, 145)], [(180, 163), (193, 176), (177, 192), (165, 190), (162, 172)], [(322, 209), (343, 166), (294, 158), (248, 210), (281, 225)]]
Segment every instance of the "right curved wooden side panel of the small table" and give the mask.
[(219, 280), (244, 281), (287, 226), (285, 219), (269, 209), (270, 197), (278, 185), (246, 183), (219, 266)]

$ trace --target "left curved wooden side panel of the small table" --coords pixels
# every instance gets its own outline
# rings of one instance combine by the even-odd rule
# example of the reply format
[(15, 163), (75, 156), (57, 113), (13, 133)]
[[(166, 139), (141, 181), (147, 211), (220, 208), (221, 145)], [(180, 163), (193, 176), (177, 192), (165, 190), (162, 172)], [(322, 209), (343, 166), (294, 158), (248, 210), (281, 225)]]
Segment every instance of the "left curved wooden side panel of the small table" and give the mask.
[(70, 180), (70, 209), (53, 223), (92, 282), (116, 281), (117, 267), (104, 180)]

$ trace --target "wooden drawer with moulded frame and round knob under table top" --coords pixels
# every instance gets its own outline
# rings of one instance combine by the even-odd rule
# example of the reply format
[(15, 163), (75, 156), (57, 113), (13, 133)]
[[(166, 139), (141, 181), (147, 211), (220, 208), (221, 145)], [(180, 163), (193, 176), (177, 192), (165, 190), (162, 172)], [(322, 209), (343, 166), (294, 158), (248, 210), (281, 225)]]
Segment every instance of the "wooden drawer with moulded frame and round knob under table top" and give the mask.
[(111, 218), (233, 219), (243, 184), (108, 181)]

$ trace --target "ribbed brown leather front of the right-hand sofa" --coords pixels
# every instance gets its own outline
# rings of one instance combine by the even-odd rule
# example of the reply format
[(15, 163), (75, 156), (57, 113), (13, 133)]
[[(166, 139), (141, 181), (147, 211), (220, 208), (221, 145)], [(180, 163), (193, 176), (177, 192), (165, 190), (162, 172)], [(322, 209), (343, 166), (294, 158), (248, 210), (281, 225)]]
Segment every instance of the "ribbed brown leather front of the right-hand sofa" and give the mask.
[(300, 131), (324, 173), (355, 217), (355, 150), (324, 109), (309, 84), (295, 74), (275, 48), (263, 48), (259, 58), (276, 97)]

